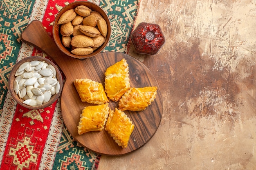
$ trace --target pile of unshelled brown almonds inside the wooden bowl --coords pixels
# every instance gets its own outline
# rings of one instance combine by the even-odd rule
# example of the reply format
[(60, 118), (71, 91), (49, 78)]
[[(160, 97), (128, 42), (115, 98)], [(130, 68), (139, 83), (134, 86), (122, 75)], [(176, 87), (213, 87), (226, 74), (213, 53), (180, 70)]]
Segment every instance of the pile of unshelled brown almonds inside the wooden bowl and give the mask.
[(63, 46), (74, 55), (89, 55), (105, 40), (107, 23), (100, 13), (84, 5), (65, 11), (59, 18)]

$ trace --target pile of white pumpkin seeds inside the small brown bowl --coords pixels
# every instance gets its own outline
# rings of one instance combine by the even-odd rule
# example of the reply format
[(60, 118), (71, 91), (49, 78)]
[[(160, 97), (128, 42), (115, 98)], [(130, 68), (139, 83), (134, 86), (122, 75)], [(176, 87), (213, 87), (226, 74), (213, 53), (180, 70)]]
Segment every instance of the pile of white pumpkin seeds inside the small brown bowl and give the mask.
[(14, 91), (29, 106), (47, 103), (60, 91), (56, 69), (45, 61), (25, 62), (19, 66), (15, 76)]

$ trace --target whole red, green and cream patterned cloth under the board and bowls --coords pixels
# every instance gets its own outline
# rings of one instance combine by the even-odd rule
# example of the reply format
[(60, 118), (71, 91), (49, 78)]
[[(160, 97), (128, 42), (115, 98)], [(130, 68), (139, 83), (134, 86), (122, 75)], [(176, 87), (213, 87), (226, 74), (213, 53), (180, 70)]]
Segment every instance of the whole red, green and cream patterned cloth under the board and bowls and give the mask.
[[(8, 91), (9, 73), (22, 58), (44, 53), (22, 43), (20, 33), (31, 20), (40, 20), (52, 36), (58, 11), (74, 0), (0, 0), (0, 170), (97, 170), (101, 155), (74, 141), (63, 124), (58, 100), (47, 108), (29, 110)], [(103, 51), (127, 52), (138, 1), (89, 0), (108, 14), (112, 27)]]

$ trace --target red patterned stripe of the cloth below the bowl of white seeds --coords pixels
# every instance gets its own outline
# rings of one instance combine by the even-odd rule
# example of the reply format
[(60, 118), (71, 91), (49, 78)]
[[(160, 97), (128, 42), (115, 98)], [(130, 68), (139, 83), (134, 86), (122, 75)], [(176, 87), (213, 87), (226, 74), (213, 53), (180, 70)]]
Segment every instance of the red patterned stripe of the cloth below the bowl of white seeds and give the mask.
[(38, 161), (43, 154), (56, 102), (38, 110), (16, 106), (2, 158), (2, 170), (39, 169)]

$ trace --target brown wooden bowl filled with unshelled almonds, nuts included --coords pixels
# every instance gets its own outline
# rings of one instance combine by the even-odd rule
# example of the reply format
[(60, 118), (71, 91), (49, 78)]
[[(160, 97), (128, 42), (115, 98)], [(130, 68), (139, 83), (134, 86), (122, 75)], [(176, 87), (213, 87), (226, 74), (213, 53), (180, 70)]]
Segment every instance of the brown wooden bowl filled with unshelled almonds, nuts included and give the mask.
[(93, 2), (72, 2), (54, 20), (54, 41), (70, 57), (85, 59), (97, 55), (108, 44), (110, 35), (108, 15)]

